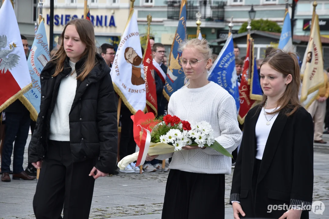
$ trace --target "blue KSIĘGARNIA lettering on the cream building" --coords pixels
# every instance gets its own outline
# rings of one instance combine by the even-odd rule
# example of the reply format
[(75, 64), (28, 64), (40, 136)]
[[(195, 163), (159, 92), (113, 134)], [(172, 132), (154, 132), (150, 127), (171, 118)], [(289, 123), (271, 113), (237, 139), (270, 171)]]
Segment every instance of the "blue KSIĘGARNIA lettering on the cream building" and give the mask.
[[(71, 16), (70, 14), (55, 14), (54, 15), (54, 25), (60, 26), (60, 25), (66, 25), (70, 20), (72, 19), (78, 19), (78, 15)], [(81, 16), (83, 18), (83, 15)], [(94, 26), (101, 26), (101, 27), (115, 27), (115, 21), (114, 16), (108, 16), (108, 15), (91, 15), (90, 21)], [(50, 15), (47, 14), (47, 25), (50, 23)]]

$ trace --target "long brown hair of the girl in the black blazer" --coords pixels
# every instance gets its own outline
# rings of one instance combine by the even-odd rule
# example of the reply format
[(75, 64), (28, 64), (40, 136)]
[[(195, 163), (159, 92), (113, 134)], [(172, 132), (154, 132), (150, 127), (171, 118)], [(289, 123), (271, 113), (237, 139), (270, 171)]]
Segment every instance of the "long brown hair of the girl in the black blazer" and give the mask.
[[(282, 73), (284, 78), (289, 74), (292, 76), (291, 82), (287, 85), (285, 92), (277, 102), (277, 106), (280, 106), (280, 108), (268, 114), (275, 114), (283, 110), (287, 116), (291, 116), (300, 107), (298, 94), (301, 77), (297, 55), (291, 52), (284, 52), (280, 49), (273, 49), (264, 59), (261, 67), (265, 63), (269, 64), (274, 70)], [(264, 106), (266, 99), (267, 96), (264, 94), (263, 100), (259, 105), (260, 107)]]

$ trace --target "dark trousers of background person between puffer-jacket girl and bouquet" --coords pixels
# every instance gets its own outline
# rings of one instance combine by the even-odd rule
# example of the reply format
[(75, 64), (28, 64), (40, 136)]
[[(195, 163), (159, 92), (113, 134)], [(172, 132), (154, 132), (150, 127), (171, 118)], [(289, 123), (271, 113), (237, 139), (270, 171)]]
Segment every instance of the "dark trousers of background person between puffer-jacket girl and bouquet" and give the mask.
[(121, 104), (121, 138), (120, 138), (120, 159), (136, 152), (136, 142), (134, 140), (134, 122), (130, 118), (133, 114), (122, 102)]

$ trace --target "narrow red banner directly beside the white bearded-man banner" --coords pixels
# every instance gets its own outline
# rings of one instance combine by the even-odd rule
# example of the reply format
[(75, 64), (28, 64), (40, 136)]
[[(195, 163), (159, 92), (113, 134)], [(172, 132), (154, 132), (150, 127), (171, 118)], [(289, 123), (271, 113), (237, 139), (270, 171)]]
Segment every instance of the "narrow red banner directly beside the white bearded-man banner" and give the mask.
[(152, 112), (154, 116), (158, 114), (157, 90), (154, 79), (154, 65), (152, 63), (151, 45), (148, 43), (144, 54), (143, 65), (145, 74), (145, 89), (146, 89), (146, 108), (147, 112)]

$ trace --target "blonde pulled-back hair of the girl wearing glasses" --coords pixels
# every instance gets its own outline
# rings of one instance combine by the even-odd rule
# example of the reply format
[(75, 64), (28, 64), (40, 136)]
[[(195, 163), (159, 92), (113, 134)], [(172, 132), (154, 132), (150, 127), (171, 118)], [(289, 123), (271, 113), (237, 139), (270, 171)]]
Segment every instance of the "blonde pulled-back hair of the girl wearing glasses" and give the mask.
[[(178, 52), (183, 52), (186, 48), (195, 48), (197, 51), (199, 51), (205, 59), (211, 59), (213, 61), (213, 51), (210, 48), (208, 41), (204, 38), (200, 39), (189, 39), (184, 40), (179, 44)], [(207, 74), (207, 78), (209, 75)], [(189, 84), (189, 80), (185, 77), (184, 80), (185, 85), (187, 86)]]

